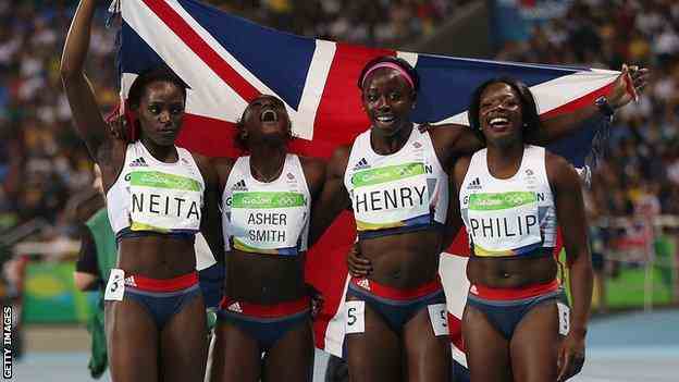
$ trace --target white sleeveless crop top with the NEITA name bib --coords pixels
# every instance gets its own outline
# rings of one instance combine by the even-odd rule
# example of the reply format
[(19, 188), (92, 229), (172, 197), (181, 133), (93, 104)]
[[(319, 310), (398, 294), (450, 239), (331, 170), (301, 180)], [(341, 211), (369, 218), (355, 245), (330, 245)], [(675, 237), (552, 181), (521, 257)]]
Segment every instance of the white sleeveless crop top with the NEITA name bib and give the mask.
[(127, 145), (123, 170), (107, 193), (118, 238), (149, 232), (194, 235), (200, 230), (205, 182), (190, 152), (176, 150), (177, 161), (165, 163), (140, 140)]

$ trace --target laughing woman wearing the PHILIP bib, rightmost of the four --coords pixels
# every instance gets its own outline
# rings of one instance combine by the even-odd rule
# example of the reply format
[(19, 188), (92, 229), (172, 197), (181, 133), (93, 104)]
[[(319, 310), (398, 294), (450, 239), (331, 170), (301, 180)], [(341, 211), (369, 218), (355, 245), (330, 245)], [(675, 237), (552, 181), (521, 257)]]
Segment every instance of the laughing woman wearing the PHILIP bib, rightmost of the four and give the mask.
[[(580, 177), (564, 158), (526, 143), (540, 119), (524, 84), (484, 83), (469, 120), (487, 146), (460, 158), (453, 174), (471, 247), (462, 317), (471, 380), (564, 381), (584, 362), (592, 298)], [(556, 279), (557, 222), (572, 312)]]

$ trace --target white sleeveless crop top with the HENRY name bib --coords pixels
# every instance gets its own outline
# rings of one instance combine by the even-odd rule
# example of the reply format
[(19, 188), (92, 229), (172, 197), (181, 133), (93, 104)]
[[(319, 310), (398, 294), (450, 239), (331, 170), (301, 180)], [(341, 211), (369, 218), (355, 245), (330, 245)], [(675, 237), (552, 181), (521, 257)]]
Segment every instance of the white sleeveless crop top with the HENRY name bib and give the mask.
[(445, 224), (448, 175), (429, 133), (420, 133), (417, 125), (400, 150), (387, 156), (374, 152), (370, 131), (356, 137), (344, 185), (361, 238)]

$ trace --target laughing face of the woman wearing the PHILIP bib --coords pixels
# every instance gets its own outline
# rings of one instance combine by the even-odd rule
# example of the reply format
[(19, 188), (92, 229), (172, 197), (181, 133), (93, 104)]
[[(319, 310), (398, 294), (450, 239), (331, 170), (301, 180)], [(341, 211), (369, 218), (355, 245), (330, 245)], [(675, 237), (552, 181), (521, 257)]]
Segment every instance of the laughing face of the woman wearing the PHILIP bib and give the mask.
[(479, 122), (489, 144), (505, 146), (522, 139), (523, 111), (519, 95), (505, 83), (489, 85), (479, 100)]

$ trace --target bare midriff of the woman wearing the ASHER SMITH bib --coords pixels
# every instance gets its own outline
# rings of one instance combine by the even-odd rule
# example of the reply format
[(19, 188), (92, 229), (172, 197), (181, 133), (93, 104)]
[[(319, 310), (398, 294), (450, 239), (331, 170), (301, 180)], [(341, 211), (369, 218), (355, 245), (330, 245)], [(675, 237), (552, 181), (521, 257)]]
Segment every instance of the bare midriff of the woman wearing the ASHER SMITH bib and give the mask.
[(226, 255), (226, 295), (247, 303), (273, 305), (307, 295), (304, 258), (244, 252)]

